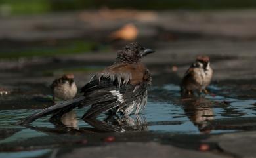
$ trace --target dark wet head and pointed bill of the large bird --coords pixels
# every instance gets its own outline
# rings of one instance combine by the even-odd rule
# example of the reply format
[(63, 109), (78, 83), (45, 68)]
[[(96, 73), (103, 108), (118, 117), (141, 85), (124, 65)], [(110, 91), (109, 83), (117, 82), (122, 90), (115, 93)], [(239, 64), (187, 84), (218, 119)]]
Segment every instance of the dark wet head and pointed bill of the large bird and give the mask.
[(145, 47), (142, 47), (139, 43), (133, 42), (129, 43), (125, 47), (123, 47), (119, 52), (117, 53), (117, 62), (138, 62), (141, 60), (143, 56), (146, 56), (150, 53), (155, 52), (152, 49), (146, 49)]

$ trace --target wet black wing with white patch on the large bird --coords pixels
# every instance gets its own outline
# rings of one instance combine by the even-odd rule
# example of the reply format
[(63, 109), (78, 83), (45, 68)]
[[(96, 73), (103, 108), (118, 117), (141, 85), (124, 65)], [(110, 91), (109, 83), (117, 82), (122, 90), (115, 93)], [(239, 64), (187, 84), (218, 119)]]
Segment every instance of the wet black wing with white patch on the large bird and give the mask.
[(81, 91), (86, 100), (84, 105), (92, 105), (83, 118), (96, 117), (104, 111), (133, 102), (144, 94), (146, 85), (147, 83), (119, 85), (118, 81), (112, 82), (108, 78), (91, 81)]

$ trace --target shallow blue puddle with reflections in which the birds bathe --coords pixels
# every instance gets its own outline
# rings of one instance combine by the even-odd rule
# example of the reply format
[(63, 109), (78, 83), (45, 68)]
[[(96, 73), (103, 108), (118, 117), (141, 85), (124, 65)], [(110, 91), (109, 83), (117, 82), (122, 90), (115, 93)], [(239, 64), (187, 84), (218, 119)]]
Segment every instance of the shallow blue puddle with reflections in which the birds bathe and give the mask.
[[(148, 132), (199, 136), (256, 130), (256, 100), (227, 98), (222, 96), (223, 87), (217, 85), (211, 85), (209, 90), (211, 94), (182, 98), (178, 85), (152, 86), (148, 92), (146, 109), (138, 116), (108, 118), (106, 114), (102, 114), (98, 119), (83, 121), (81, 117), (89, 108), (87, 107), (67, 113), (62, 117), (60, 123), (51, 123), (49, 117), (43, 117), (37, 119), (28, 128), (14, 125), (14, 123), (35, 113), (39, 107), (30, 106), (29, 102), (27, 106), (24, 106), (27, 109), (22, 106), (18, 106), (18, 108), (14, 106), (14, 109), (6, 108), (7, 105), (5, 105), (5, 108), (0, 110), (0, 146), (3, 147), (1, 151), (16, 151), (13, 146), (27, 146), (26, 149), (30, 149), (30, 144), (33, 146), (41, 146), (40, 144), (49, 144), (50, 146), (54, 143), (70, 144), (70, 140), (80, 139), (77, 136), (81, 136), (81, 134), (82, 136), (85, 134), (89, 138), (92, 136), (91, 134), (102, 132), (125, 131), (127, 133)], [(36, 102), (33, 101), (33, 105)], [(39, 103), (43, 104), (43, 102), (44, 100), (40, 100)], [(45, 102), (49, 105), (49, 100), (45, 100)], [(22, 102), (22, 105), (24, 104), (25, 102)], [(72, 138), (61, 140), (62, 135), (59, 134), (68, 134), (66, 136), (71, 134)], [(51, 150), (37, 150), (32, 153), (18, 151), (17, 154), (19, 155), (19, 153), (27, 155), (27, 157), (40, 157), (40, 155), (51, 153)], [(1, 153), (0, 157), (16, 157), (16, 155)]]

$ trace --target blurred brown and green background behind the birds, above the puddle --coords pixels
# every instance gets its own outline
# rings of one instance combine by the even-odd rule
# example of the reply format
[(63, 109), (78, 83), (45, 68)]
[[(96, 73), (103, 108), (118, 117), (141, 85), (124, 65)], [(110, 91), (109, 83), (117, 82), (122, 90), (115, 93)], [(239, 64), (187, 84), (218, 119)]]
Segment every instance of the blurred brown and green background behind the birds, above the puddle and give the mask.
[(153, 75), (177, 75), (156, 84), (179, 85), (198, 55), (210, 56), (214, 81), (255, 79), (255, 7), (253, 0), (0, 0), (0, 87), (43, 84), (37, 92), (48, 94), (63, 73), (81, 87), (131, 41), (156, 50), (144, 60)]

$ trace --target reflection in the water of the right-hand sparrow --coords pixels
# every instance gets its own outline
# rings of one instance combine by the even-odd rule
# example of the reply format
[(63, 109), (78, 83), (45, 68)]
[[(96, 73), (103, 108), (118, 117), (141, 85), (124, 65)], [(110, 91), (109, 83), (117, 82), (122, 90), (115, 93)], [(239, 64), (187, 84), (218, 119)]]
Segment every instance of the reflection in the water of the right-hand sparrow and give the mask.
[(187, 98), (183, 100), (184, 111), (190, 121), (198, 127), (202, 134), (209, 134), (213, 127), (209, 125), (209, 121), (214, 120), (213, 102), (205, 98)]

